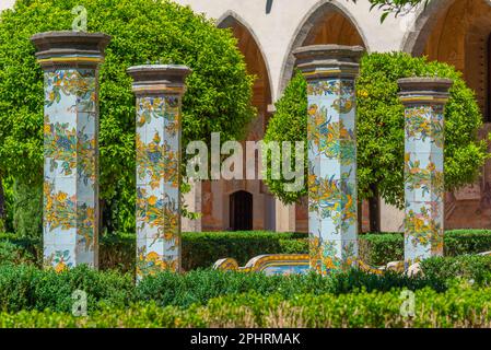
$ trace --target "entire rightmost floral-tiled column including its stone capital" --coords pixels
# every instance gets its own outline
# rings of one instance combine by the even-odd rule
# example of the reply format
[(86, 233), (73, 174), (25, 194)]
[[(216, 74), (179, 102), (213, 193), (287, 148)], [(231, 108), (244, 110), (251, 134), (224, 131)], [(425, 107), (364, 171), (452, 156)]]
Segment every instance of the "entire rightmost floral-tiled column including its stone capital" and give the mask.
[(448, 79), (398, 81), (405, 110), (406, 267), (443, 255), (444, 107)]

